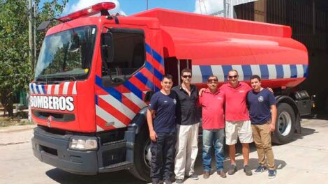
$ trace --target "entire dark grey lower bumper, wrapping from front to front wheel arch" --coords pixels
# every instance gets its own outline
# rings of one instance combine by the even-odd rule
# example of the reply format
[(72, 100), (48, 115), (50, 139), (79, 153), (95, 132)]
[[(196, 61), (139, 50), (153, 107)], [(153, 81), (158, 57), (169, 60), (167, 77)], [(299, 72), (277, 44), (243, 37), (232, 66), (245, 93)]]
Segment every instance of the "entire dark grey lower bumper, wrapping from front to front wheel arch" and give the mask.
[[(33, 155), (41, 162), (68, 171), (73, 174), (95, 175), (100, 172), (119, 171), (133, 166), (133, 143), (134, 136), (127, 136), (119, 141), (107, 144), (98, 144), (95, 151), (75, 151), (68, 148), (71, 137), (74, 135), (57, 135), (34, 128), (31, 139)], [(99, 137), (89, 137), (97, 138)], [(126, 141), (130, 139), (129, 141)], [(100, 143), (100, 141), (98, 141)], [(112, 155), (109, 155), (112, 154)], [(106, 157), (104, 155), (107, 155)], [(108, 158), (121, 158), (108, 162)], [(107, 163), (107, 164), (106, 164)], [(110, 164), (109, 164), (110, 163)]]

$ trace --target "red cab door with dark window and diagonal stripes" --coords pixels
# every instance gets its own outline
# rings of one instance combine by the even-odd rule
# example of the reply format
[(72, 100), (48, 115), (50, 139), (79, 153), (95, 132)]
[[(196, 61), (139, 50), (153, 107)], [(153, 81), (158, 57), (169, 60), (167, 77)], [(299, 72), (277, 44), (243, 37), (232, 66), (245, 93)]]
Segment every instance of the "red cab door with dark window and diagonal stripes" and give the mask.
[[(124, 25), (120, 25), (124, 26)], [(147, 29), (105, 27), (101, 36), (101, 77), (96, 79), (97, 131), (125, 128), (140, 109), (148, 91), (159, 89), (147, 54)]]

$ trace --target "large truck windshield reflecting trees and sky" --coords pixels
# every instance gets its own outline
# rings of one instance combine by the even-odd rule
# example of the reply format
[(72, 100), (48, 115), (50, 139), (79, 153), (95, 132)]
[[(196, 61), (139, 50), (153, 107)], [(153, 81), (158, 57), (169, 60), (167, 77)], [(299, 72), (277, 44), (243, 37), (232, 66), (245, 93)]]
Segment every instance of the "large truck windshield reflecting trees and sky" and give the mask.
[(83, 26), (45, 37), (36, 65), (35, 81), (54, 83), (87, 79), (96, 26)]

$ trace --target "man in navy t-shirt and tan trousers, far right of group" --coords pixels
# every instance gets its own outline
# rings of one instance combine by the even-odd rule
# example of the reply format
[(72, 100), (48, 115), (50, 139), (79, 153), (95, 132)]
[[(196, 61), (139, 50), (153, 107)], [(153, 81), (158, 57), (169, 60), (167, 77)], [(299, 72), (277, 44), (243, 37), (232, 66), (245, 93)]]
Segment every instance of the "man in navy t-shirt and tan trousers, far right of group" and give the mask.
[[(276, 129), (276, 99), (273, 93), (261, 87), (261, 78), (258, 75), (251, 77), (251, 86), (253, 90), (248, 92), (247, 102), (260, 164), (254, 173), (260, 174), (268, 168), (269, 178), (274, 178), (276, 177), (276, 167), (271, 146), (271, 132)], [(267, 158), (267, 165), (265, 158)]]

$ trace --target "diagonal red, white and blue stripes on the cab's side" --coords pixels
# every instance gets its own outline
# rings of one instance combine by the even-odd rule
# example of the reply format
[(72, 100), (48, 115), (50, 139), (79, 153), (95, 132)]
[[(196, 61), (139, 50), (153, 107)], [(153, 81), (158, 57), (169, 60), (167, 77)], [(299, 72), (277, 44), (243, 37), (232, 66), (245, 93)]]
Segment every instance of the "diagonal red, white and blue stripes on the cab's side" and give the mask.
[(140, 109), (147, 106), (144, 96), (147, 91), (159, 91), (164, 75), (164, 60), (161, 54), (146, 44), (147, 60), (130, 79), (117, 87), (105, 87), (96, 75), (96, 124), (97, 132), (124, 128)]

